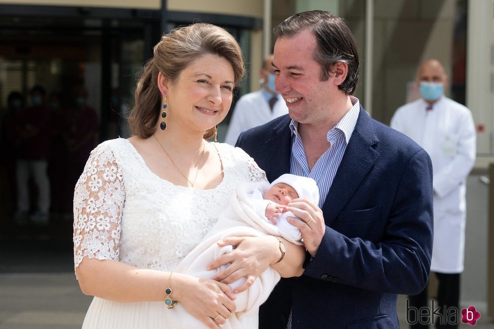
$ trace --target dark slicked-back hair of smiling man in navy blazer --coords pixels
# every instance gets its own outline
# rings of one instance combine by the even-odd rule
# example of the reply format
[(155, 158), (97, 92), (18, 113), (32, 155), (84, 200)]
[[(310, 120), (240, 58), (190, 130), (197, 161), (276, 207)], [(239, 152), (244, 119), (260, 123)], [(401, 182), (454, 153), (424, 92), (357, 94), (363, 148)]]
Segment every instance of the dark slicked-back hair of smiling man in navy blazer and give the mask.
[(345, 21), (330, 12), (314, 10), (295, 14), (274, 28), (276, 37), (290, 38), (303, 30), (310, 30), (317, 40), (314, 59), (321, 64), (321, 81), (329, 79), (333, 65), (345, 62), (348, 74), (338, 86), (346, 94), (355, 92), (358, 82), (358, 50), (352, 32)]

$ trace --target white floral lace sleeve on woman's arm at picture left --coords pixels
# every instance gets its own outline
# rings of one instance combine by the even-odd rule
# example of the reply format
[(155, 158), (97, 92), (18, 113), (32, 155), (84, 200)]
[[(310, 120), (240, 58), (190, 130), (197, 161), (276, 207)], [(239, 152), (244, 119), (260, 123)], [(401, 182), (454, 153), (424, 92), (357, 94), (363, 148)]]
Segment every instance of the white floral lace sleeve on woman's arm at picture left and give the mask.
[(113, 153), (98, 147), (74, 192), (74, 265), (85, 256), (118, 259), (120, 217), (125, 201), (122, 175)]

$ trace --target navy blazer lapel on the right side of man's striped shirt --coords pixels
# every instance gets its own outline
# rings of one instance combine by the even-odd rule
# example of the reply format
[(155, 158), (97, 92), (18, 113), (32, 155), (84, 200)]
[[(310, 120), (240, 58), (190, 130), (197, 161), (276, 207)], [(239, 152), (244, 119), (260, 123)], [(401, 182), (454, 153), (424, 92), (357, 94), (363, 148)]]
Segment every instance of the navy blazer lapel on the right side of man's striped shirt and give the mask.
[(372, 146), (378, 142), (374, 120), (360, 107), (355, 129), (322, 207), (326, 225), (333, 223), (373, 167), (379, 153)]

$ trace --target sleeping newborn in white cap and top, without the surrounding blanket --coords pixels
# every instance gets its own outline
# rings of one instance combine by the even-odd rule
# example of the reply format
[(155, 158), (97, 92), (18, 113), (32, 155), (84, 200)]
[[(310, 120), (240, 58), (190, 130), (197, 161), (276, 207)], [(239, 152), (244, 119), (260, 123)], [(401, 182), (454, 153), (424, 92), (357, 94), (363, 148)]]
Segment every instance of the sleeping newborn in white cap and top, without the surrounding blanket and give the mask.
[(261, 218), (279, 226), (298, 241), (302, 237), (300, 230), (288, 222), (288, 217), (296, 216), (286, 212), (286, 206), (297, 198), (306, 198), (317, 205), (319, 189), (312, 178), (283, 174), (271, 183), (264, 196), (261, 189), (256, 189), (252, 193), (252, 198), (255, 211)]

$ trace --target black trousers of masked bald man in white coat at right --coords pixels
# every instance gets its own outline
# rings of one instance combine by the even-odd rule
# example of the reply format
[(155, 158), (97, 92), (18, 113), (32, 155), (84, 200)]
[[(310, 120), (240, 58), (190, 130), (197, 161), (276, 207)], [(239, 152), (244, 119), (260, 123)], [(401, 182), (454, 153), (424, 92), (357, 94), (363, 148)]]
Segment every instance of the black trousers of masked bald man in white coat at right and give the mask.
[[(432, 274), (432, 273), (431, 273)], [(441, 307), (443, 310), (443, 306), (446, 307), (456, 307), (458, 310), (458, 321), (461, 321), (461, 312), (460, 312), (460, 274), (459, 273), (436, 273), (436, 277), (438, 278), (438, 299), (435, 302), (434, 308)], [(427, 287), (422, 290), (421, 293), (414, 296), (408, 296), (410, 300), (410, 306), (416, 307), (420, 309), (420, 307), (427, 307), (430, 309), (429, 296), (427, 294)], [(436, 304), (437, 303), (437, 304)], [(441, 324), (437, 319), (434, 320), (435, 326), (438, 329), (448, 328), (448, 329), (456, 329), (458, 328), (458, 324)], [(411, 324), (411, 329), (425, 329), (429, 328), (428, 324)]]

